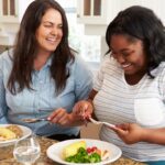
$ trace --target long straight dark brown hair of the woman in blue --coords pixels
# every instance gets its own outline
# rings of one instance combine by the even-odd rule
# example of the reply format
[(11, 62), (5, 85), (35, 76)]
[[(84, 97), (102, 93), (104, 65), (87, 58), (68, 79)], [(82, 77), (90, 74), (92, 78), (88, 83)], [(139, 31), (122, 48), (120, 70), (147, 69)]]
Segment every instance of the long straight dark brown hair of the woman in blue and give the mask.
[[(18, 32), (13, 50), (13, 67), (9, 77), (8, 88), (15, 95), (25, 87), (31, 88), (33, 62), (36, 57), (37, 41), (35, 37), (42, 18), (48, 9), (57, 10), (63, 21), (62, 42), (54, 51), (51, 65), (51, 76), (55, 80), (56, 91), (61, 92), (69, 77), (66, 64), (75, 59), (73, 50), (68, 46), (68, 23), (64, 9), (54, 0), (35, 0), (26, 9)], [(15, 82), (19, 85), (15, 89)]]

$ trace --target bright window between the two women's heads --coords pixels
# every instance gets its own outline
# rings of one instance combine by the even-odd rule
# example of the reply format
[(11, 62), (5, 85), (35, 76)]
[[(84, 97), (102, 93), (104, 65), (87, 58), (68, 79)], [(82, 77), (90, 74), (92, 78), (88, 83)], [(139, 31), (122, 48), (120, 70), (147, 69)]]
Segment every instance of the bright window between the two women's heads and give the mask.
[(77, 23), (76, 0), (57, 0), (65, 9), (69, 24), (69, 44), (78, 51), (80, 56), (90, 62), (90, 65), (96, 65), (100, 62), (100, 36), (85, 35), (84, 25)]

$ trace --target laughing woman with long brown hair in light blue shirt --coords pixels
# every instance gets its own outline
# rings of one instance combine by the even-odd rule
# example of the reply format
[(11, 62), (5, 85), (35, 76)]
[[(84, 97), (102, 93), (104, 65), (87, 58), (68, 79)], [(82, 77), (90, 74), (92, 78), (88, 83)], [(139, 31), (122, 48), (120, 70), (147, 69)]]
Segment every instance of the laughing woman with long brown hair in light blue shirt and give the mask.
[[(69, 47), (64, 9), (54, 0), (33, 1), (14, 45), (0, 56), (0, 122), (24, 124), (58, 141), (79, 138), (73, 107), (87, 98), (92, 74)], [(45, 117), (48, 121), (22, 120)]]

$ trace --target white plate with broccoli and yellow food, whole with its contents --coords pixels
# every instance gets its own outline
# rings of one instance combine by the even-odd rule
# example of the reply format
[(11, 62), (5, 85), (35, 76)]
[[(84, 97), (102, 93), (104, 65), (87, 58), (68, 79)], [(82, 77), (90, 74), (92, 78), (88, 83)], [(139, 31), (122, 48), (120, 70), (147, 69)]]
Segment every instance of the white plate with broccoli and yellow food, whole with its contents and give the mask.
[(67, 140), (51, 145), (47, 156), (65, 165), (106, 165), (117, 161), (122, 152), (114, 144), (91, 140)]

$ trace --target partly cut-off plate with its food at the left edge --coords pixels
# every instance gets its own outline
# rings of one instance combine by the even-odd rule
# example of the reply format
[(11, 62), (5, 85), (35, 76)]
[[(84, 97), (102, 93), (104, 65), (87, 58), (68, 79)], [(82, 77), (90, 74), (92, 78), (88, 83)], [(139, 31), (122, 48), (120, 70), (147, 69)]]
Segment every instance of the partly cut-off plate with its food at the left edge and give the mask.
[(0, 146), (11, 145), (31, 134), (32, 130), (23, 125), (0, 124)]

